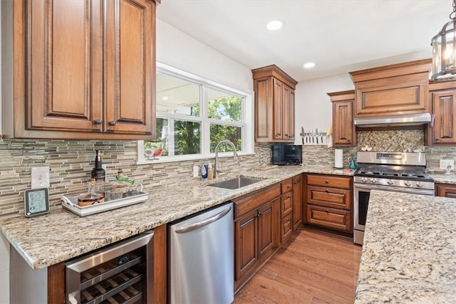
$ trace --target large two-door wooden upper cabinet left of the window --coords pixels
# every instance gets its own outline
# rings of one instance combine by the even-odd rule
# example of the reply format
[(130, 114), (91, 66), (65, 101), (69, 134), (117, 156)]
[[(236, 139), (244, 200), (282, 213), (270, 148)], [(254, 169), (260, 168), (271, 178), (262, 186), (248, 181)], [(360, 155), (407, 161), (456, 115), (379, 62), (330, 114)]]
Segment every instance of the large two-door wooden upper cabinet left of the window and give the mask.
[(4, 135), (152, 138), (155, 6), (152, 0), (14, 1), (17, 17), (6, 27), (14, 65), (5, 71), (14, 75), (6, 87), (14, 107), (6, 110)]

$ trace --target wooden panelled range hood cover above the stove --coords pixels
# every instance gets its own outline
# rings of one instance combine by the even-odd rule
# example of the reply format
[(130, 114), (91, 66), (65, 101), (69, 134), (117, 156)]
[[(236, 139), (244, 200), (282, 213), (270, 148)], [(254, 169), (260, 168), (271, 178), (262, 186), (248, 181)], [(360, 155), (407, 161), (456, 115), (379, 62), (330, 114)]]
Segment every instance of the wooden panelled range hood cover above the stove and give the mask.
[(431, 61), (413, 61), (351, 72), (355, 84), (354, 117), (428, 112)]

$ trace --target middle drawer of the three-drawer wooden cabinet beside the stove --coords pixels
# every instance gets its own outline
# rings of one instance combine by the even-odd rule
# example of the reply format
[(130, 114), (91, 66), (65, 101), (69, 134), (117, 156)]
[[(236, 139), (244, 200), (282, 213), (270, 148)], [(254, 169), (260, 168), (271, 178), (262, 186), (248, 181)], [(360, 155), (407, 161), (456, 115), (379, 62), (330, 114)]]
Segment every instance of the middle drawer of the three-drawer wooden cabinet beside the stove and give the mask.
[(308, 186), (307, 204), (351, 210), (351, 190)]

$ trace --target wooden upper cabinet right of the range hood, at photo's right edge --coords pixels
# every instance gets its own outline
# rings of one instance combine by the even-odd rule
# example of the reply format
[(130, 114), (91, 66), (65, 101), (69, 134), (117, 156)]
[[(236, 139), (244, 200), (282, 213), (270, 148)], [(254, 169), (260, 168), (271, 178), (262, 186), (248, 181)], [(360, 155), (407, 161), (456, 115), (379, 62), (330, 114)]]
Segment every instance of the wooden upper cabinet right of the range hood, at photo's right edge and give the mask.
[(456, 82), (430, 85), (433, 124), (427, 127), (427, 145), (454, 145), (456, 143)]

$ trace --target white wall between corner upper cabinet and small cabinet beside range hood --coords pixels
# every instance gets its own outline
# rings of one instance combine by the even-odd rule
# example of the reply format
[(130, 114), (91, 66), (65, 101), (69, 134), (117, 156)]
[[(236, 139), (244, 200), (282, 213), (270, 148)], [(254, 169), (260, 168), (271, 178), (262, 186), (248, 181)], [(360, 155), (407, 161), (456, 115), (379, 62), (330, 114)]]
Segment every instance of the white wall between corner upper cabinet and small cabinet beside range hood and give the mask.
[(295, 144), (301, 145), (301, 127), (304, 130), (326, 132), (332, 120), (332, 105), (326, 93), (354, 90), (348, 73), (328, 78), (308, 80), (296, 85), (295, 90)]

